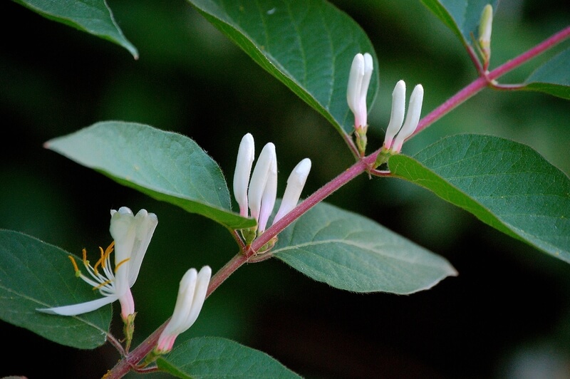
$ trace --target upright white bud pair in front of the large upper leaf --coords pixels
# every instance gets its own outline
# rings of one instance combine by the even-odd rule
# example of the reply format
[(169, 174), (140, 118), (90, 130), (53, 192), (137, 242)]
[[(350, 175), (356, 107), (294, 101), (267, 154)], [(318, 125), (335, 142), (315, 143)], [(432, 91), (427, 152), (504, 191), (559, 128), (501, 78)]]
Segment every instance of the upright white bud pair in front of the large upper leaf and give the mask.
[(368, 93), (373, 68), (372, 56), (369, 53), (358, 53), (354, 56), (351, 72), (348, 75), (346, 102), (354, 115), (354, 128), (357, 130), (368, 126), (366, 94)]

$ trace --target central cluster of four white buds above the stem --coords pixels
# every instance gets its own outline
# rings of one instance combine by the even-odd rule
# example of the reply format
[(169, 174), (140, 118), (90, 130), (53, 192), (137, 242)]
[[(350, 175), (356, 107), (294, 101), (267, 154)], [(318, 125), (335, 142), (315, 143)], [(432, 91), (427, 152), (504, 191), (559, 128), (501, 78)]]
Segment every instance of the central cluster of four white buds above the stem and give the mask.
[[(239, 214), (257, 220), (257, 227), (254, 230), (242, 231), (247, 244), (265, 231), (277, 195), (275, 145), (269, 142), (263, 147), (250, 180), (249, 175), (252, 172), (254, 155), (254, 137), (247, 133), (239, 144), (234, 172), (234, 197), (239, 205)], [(289, 180), (287, 180), (281, 206), (273, 219), (273, 223), (279, 221), (296, 207), (310, 170), (311, 160), (309, 158), (301, 160), (293, 169)]]

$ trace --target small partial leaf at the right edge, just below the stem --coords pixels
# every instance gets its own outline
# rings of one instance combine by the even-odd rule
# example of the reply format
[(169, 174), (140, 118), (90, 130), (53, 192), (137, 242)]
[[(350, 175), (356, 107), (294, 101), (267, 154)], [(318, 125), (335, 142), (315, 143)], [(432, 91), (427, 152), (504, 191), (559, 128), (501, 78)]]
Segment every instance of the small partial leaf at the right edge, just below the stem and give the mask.
[(524, 89), (570, 100), (570, 48), (546, 61), (527, 78)]

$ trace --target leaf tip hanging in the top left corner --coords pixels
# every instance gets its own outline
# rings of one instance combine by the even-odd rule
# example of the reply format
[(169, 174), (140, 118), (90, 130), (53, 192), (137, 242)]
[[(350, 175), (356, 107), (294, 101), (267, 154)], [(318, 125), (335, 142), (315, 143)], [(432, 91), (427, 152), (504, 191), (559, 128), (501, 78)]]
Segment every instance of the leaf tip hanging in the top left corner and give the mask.
[(123, 35), (104, 0), (15, 0), (53, 21), (61, 22), (126, 48), (135, 59), (138, 51)]

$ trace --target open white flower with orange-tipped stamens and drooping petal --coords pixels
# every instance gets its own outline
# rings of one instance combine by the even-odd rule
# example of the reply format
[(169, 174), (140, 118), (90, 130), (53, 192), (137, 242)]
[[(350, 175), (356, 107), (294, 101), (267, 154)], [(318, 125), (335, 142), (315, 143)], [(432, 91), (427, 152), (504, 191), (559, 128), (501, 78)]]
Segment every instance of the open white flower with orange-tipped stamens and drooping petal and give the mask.
[[(113, 243), (103, 251), (100, 248), (100, 259), (94, 266), (87, 260), (86, 250), (83, 249), (83, 266), (89, 276), (84, 275), (78, 269), (75, 259), (70, 256), (76, 269), (76, 276), (97, 289), (103, 298), (98, 298), (85, 303), (70, 306), (58, 306), (54, 308), (40, 308), (38, 311), (58, 314), (61, 316), (76, 316), (81, 313), (95, 311), (102, 306), (120, 301), (121, 317), (124, 321), (129, 315), (135, 313), (135, 303), (130, 287), (135, 284), (142, 259), (147, 251), (148, 244), (158, 224), (156, 214), (148, 213), (145, 209), (135, 215), (128, 207), (111, 209), (110, 234)], [(115, 249), (115, 269), (111, 269), (110, 254)], [(101, 272), (103, 271), (103, 272)]]

